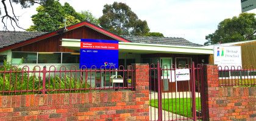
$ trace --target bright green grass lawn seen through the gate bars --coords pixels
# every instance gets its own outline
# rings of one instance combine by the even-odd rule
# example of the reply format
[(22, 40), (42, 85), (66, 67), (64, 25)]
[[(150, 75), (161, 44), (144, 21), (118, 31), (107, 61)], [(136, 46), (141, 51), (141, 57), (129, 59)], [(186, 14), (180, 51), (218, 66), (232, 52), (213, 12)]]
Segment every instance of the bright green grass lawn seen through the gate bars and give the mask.
[[(158, 100), (150, 100), (150, 105), (158, 108)], [(199, 110), (199, 106), (201, 108), (201, 100), (200, 98), (196, 98), (196, 110)], [(191, 99), (190, 98), (177, 98), (177, 99), (162, 99), (162, 108), (165, 111), (169, 111), (171, 113), (179, 114), (185, 117), (191, 117)]]

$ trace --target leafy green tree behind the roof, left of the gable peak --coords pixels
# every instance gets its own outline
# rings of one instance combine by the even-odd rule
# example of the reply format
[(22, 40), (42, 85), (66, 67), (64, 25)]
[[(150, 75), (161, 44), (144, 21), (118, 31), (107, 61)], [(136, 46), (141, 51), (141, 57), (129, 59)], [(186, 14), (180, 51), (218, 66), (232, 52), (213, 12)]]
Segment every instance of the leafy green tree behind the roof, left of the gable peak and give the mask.
[(68, 3), (61, 5), (59, 1), (41, 5), (37, 7), (37, 12), (36, 15), (32, 16), (34, 25), (31, 25), (27, 31), (55, 31), (65, 27), (65, 25), (69, 26), (88, 20), (98, 24), (98, 19), (94, 18), (89, 11), (77, 13)]

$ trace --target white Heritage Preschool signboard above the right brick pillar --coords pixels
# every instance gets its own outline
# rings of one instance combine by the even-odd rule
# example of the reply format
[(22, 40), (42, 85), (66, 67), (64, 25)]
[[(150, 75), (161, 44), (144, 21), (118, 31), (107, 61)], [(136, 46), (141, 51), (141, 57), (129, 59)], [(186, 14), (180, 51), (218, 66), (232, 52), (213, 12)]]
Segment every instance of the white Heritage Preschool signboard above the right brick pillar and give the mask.
[(224, 67), (231, 68), (234, 66), (242, 67), (242, 58), (241, 58), (241, 47), (240, 46), (221, 46), (215, 45), (213, 47), (214, 51), (214, 64)]

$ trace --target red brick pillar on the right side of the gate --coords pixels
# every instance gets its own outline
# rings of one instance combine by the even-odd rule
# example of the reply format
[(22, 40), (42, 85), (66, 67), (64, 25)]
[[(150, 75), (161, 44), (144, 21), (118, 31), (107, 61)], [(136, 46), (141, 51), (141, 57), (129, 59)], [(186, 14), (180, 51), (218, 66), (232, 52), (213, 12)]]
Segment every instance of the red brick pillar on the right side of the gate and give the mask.
[(218, 117), (218, 106), (216, 105), (216, 97), (219, 97), (219, 73), (217, 65), (206, 65), (205, 73), (205, 120), (221, 120)]

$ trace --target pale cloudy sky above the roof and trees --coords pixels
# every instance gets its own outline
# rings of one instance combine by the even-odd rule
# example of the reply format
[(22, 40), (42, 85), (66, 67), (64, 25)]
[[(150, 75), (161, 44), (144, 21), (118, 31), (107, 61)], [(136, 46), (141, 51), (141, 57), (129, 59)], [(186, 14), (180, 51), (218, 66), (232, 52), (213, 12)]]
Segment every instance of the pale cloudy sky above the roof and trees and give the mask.
[[(137, 14), (141, 20), (146, 20), (151, 32), (163, 33), (165, 37), (185, 38), (196, 44), (204, 44), (205, 36), (214, 33), (219, 22), (226, 18), (238, 16), (241, 13), (240, 0), (115, 0), (124, 2)], [(96, 18), (102, 16), (105, 4), (113, 4), (113, 0), (60, 0), (68, 2), (76, 11), (88, 10)], [(29, 28), (33, 24), (31, 16), (37, 14), (34, 5), (21, 8), (13, 4), (19, 17), (19, 25)], [(1, 6), (2, 8), (2, 6)], [(3, 9), (2, 9), (3, 11)], [(10, 11), (10, 10), (9, 10)], [(256, 13), (256, 9), (248, 11)], [(9, 30), (12, 27), (7, 23)], [(3, 30), (0, 24), (0, 30)], [(24, 31), (19, 28), (16, 31)]]

